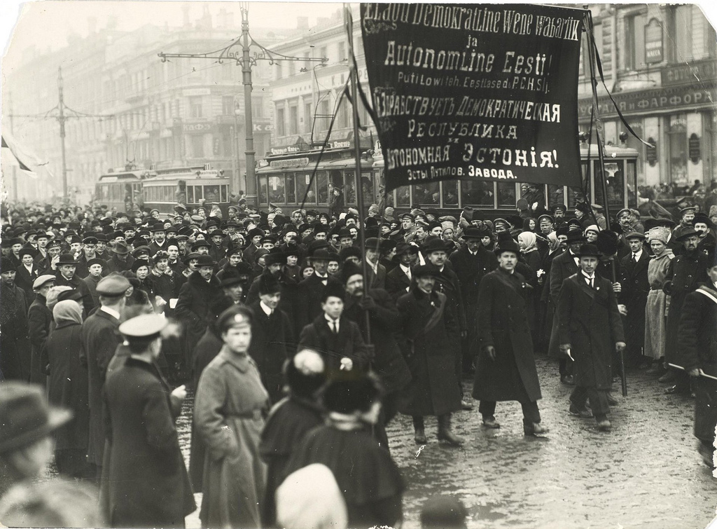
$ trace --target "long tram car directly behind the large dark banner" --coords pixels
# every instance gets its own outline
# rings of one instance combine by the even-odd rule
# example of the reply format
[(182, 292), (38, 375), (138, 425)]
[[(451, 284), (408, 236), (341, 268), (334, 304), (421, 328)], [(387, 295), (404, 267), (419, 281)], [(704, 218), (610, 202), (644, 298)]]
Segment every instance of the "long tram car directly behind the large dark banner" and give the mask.
[[(604, 171), (600, 169), (597, 145), (581, 143), (580, 155), (582, 189), (552, 184), (534, 186), (538, 189), (537, 195), (542, 193), (548, 209), (563, 204), (571, 210), (576, 202), (584, 200), (586, 191), (590, 202), (604, 205), (603, 173), (607, 176), (610, 211), (637, 207), (637, 150), (626, 146), (604, 146)], [(256, 172), (258, 207), (265, 210), (271, 203), (285, 214), (290, 214), (291, 210), (302, 205), (304, 197), (305, 208), (320, 212), (331, 212), (332, 207), (337, 210), (357, 207), (354, 156), (353, 148), (326, 149), (320, 160), (318, 149), (267, 156), (260, 160)], [(526, 182), (462, 179), (399, 187), (389, 193), (385, 202), (381, 202), (384, 159), (379, 144), (362, 152), (360, 181), (364, 192), (364, 210), (371, 203), (376, 203), (390, 205), (397, 212), (432, 207), (447, 215), (470, 206), (481, 210), (486, 218), (516, 212), (518, 200), (531, 192), (531, 184)], [(531, 193), (531, 196), (536, 196), (534, 189)]]

